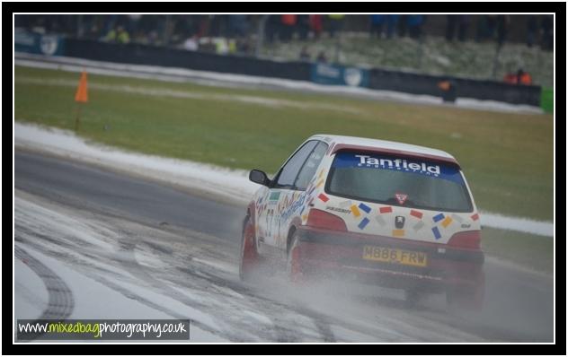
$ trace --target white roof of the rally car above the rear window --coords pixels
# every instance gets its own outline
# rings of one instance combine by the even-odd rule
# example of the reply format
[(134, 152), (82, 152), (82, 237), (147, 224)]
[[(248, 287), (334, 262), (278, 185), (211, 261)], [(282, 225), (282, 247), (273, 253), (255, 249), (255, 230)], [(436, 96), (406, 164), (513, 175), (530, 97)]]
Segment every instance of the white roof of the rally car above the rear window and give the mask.
[(358, 149), (358, 150), (367, 149), (367, 151), (410, 155), (417, 158), (422, 157), (425, 159), (446, 161), (458, 165), (456, 158), (454, 158), (448, 152), (444, 152), (438, 149), (432, 149), (425, 146), (397, 143), (387, 140), (370, 139), (358, 136), (344, 136), (344, 135), (317, 134), (317, 135), (312, 135), (310, 139), (323, 140), (328, 144), (333, 144), (333, 147), (331, 148), (333, 152), (337, 152), (339, 150), (349, 150), (349, 149)]

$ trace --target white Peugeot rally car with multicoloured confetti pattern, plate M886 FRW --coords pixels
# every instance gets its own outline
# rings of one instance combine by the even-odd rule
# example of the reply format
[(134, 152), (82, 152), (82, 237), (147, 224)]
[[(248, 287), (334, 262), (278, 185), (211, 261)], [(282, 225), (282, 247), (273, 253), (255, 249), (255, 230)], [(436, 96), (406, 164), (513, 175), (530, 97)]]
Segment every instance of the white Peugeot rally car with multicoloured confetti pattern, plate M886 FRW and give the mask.
[(292, 282), (350, 279), (403, 289), (408, 301), (445, 292), (449, 304), (481, 307), (479, 213), (447, 152), (314, 135), (273, 179), (249, 179), (262, 187), (244, 218), (241, 279), (281, 259)]

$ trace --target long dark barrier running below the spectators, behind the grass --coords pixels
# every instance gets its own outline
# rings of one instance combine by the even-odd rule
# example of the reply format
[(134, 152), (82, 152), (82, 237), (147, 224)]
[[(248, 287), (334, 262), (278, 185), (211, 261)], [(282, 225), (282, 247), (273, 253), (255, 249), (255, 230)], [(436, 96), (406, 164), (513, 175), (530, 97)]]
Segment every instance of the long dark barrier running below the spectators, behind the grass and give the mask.
[[(14, 43), (17, 50), (41, 53), (49, 50), (56, 56), (132, 65), (160, 65), (226, 74), (283, 78), (329, 85), (363, 87), (372, 90), (398, 91), (438, 96), (445, 101), (457, 98), (495, 100), (510, 104), (538, 107), (541, 88), (453, 76), (417, 74), (378, 68), (276, 61), (236, 55), (187, 51), (143, 44), (114, 44), (86, 39), (34, 39), (30, 48)], [(42, 47), (41, 44), (44, 44)], [(56, 45), (57, 44), (57, 45)], [(54, 48), (55, 47), (55, 48)]]

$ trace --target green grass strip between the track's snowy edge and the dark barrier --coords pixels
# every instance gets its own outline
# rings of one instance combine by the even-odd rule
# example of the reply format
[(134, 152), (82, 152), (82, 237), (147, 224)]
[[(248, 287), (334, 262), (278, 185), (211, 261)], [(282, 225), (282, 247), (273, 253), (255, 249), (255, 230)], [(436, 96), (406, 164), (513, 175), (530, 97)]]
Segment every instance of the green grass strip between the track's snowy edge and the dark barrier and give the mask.
[[(73, 130), (79, 74), (14, 68), (15, 120)], [(89, 75), (79, 135), (123, 149), (278, 170), (315, 133), (452, 153), (486, 211), (552, 221), (552, 115)]]

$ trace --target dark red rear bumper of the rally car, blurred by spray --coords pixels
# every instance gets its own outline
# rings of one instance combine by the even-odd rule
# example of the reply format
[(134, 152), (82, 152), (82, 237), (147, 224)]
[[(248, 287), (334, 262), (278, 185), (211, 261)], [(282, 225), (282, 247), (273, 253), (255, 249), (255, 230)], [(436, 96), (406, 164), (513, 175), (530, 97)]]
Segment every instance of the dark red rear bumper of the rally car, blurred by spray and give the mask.
[[(300, 227), (297, 236), (302, 271), (306, 274), (427, 291), (448, 287), (475, 288), (484, 282), (484, 253), (481, 250), (309, 227)], [(368, 261), (362, 257), (365, 246), (422, 252), (427, 255), (427, 266)]]

